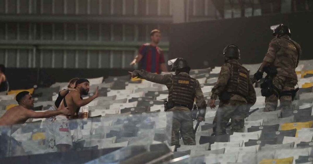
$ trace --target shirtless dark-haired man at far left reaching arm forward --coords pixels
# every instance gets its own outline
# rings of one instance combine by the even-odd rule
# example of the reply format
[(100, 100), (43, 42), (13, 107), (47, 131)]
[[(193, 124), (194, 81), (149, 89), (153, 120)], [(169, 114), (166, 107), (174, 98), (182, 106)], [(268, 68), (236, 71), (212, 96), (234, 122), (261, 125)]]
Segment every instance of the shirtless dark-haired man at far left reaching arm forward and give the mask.
[(28, 118), (48, 118), (59, 114), (70, 115), (67, 108), (61, 108), (58, 111), (34, 112), (34, 99), (27, 91), (19, 92), (16, 95), (18, 106), (12, 107), (0, 118), (0, 126), (23, 124)]

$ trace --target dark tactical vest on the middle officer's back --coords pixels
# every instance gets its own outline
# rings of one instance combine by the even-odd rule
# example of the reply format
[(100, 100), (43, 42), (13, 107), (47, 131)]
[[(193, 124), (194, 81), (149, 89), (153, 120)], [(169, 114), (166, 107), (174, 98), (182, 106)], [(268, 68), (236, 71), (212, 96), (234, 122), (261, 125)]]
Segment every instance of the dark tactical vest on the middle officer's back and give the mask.
[(247, 98), (249, 91), (248, 70), (239, 64), (230, 63), (230, 65), (230, 78), (226, 86), (226, 91)]

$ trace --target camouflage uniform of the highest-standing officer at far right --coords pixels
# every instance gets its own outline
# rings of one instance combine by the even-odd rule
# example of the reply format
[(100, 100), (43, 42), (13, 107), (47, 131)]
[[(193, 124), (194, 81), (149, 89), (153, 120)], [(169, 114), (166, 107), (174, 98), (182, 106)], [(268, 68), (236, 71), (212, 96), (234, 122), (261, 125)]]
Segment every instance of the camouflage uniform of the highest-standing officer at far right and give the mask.
[[(297, 84), (295, 68), (298, 67), (301, 48), (298, 43), (292, 41), (288, 35), (272, 39), (269, 49), (263, 59), (277, 67), (277, 74), (272, 77), (272, 84), (278, 89), (277, 95), (282, 91), (290, 91)], [(291, 109), (291, 96), (280, 97), (280, 109)], [(278, 97), (273, 94), (265, 98), (264, 111), (275, 111)]]

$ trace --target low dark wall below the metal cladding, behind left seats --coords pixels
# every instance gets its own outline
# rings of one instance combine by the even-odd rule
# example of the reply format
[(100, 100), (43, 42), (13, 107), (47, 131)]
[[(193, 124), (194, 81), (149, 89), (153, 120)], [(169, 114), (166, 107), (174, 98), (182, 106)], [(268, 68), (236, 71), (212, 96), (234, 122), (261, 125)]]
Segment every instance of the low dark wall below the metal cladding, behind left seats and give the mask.
[[(64, 69), (64, 68), (7, 68), (10, 90), (29, 89), (34, 85), (49, 87), (55, 82), (67, 82), (74, 77), (96, 78), (128, 75), (129, 69)], [(37, 81), (38, 79), (38, 81)]]

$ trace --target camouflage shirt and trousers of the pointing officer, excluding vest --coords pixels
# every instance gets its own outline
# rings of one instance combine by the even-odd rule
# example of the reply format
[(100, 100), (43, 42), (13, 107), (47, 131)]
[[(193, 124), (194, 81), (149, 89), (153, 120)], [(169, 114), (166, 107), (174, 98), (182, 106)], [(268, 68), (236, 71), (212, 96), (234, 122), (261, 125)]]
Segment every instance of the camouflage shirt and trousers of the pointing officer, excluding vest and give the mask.
[[(173, 89), (173, 75), (166, 74), (154, 74), (141, 70), (139, 72), (140, 78), (146, 79), (151, 82), (164, 84), (167, 86), (169, 92)], [(186, 72), (180, 72), (179, 75), (190, 77)], [(206, 102), (203, 98), (203, 92), (201, 90), (198, 80), (196, 80), (195, 99), (199, 109), (206, 107)], [(179, 145), (179, 131), (182, 135), (182, 140), (185, 145), (196, 145), (195, 134), (193, 133), (193, 120), (191, 111), (187, 107), (173, 107), (168, 111), (173, 112), (172, 126), (167, 126), (167, 131), (172, 127), (171, 145), (180, 147)]]

